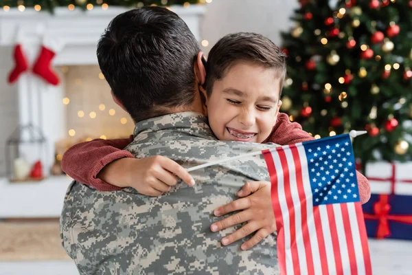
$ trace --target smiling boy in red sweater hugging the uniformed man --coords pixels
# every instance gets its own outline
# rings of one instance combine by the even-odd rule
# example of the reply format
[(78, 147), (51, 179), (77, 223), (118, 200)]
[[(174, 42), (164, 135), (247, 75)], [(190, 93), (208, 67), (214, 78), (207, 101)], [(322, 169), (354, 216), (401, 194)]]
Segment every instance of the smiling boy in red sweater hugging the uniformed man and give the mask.
[[(288, 115), (279, 113), (286, 56), (269, 39), (251, 33), (224, 36), (209, 52), (206, 71), (205, 90), (201, 90), (204, 112), (219, 140), (285, 145), (313, 139), (299, 124), (290, 122)], [(176, 184), (173, 174), (194, 184), (187, 171), (171, 159), (135, 159), (121, 150), (132, 141), (133, 135), (77, 144), (63, 156), (62, 169), (102, 191), (130, 186), (141, 194), (157, 196)], [(365, 203), (370, 196), (369, 183), (361, 173), (357, 178)]]

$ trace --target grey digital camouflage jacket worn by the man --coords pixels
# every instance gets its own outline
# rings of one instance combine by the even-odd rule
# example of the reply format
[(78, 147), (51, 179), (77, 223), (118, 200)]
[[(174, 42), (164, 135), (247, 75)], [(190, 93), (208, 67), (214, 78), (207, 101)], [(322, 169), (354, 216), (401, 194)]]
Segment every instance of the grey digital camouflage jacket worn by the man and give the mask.
[[(185, 168), (270, 148), (271, 144), (216, 140), (200, 113), (163, 115), (138, 122), (126, 150), (137, 158), (163, 155)], [(133, 188), (100, 192), (73, 181), (60, 219), (62, 245), (81, 274), (279, 274), (275, 234), (242, 251), (211, 232), (218, 206), (237, 199), (245, 181), (268, 181), (262, 155), (218, 164), (191, 175), (159, 197)]]

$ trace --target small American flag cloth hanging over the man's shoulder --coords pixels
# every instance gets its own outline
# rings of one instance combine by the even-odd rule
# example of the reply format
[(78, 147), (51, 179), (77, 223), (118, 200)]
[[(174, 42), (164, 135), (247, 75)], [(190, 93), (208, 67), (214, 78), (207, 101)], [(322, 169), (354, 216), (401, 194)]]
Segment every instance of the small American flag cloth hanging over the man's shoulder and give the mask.
[(282, 275), (372, 274), (350, 136), (263, 151)]

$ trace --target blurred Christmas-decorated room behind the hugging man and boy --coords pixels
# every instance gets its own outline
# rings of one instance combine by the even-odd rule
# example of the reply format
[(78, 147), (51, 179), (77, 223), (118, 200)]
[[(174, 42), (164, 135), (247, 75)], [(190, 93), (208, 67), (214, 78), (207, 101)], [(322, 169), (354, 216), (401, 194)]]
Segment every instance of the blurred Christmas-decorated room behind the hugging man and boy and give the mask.
[(117, 14), (164, 5), (202, 50), (258, 32), (288, 54), (282, 111), (316, 138), (354, 140), (374, 274), (412, 274), (412, 1), (0, 0), (0, 274), (78, 274), (58, 217), (69, 146), (128, 137), (95, 50)]

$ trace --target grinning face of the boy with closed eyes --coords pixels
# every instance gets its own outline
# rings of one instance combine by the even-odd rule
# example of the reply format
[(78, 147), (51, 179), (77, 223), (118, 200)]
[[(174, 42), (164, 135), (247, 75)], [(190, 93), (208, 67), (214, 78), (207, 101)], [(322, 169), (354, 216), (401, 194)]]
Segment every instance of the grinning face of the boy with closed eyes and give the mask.
[(219, 140), (263, 142), (275, 126), (282, 104), (279, 94), (273, 69), (236, 63), (206, 96), (211, 130)]

